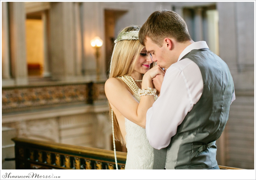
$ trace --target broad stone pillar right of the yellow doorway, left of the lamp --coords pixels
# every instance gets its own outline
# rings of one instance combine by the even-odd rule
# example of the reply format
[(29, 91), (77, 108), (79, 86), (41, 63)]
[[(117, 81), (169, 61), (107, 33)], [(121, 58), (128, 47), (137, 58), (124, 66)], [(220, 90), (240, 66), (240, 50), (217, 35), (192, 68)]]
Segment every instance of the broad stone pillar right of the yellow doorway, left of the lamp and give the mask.
[(73, 2), (51, 2), (52, 78), (75, 79)]

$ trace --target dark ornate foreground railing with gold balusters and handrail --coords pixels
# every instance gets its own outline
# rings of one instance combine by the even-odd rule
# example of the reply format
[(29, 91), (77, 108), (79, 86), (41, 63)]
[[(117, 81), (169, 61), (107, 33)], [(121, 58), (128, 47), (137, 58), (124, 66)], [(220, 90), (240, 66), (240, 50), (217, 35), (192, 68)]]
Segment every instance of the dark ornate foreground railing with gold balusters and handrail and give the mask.
[[(16, 169), (116, 169), (114, 151), (23, 138), (12, 140)], [(117, 151), (117, 163), (118, 169), (124, 169), (126, 153)]]

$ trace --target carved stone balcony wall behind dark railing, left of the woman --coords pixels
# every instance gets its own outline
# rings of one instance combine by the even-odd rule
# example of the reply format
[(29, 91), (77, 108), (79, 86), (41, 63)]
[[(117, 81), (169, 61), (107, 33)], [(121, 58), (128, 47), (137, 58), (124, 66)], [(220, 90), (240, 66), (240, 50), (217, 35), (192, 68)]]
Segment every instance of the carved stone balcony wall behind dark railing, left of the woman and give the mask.
[(2, 89), (2, 126), (18, 137), (111, 149), (104, 83)]

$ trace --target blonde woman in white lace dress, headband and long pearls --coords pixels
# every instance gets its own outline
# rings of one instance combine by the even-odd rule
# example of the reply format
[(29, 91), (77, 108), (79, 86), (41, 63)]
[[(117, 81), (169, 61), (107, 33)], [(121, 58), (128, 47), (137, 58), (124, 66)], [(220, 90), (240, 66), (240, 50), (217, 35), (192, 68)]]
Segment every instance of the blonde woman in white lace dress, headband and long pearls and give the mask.
[(164, 75), (159, 66), (146, 73), (153, 61), (145, 46), (139, 43), (139, 29), (139, 26), (129, 26), (117, 36), (109, 79), (105, 83), (113, 139), (127, 148), (125, 169), (153, 167), (153, 148), (149, 145), (145, 132), (146, 112), (157, 98), (156, 89), (152, 87), (152, 77)]

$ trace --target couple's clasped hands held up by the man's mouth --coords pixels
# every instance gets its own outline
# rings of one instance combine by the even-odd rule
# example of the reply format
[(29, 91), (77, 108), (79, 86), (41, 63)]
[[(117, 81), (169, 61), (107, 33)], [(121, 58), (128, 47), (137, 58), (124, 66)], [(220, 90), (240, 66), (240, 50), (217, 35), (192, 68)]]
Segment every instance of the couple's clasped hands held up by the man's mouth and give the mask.
[(165, 71), (157, 65), (149, 69), (148, 72), (145, 73), (145, 75), (152, 80), (153, 88), (157, 90), (157, 94), (158, 96), (160, 96), (160, 90), (164, 81)]

